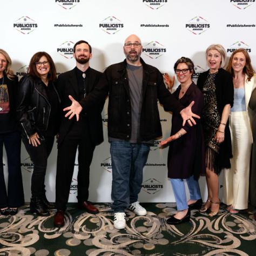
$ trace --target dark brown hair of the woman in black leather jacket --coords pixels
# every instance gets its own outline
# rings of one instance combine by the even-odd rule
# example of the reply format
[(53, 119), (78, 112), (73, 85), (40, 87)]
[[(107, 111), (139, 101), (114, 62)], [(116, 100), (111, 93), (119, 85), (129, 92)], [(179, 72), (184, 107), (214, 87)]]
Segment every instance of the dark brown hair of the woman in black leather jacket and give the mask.
[(28, 73), (29, 73), (30, 76), (32, 76), (34, 78), (40, 78), (41, 79), (41, 76), (39, 75), (39, 73), (37, 72), (37, 69), (36, 69), (36, 62), (38, 62), (39, 59), (41, 59), (43, 56), (46, 57), (46, 59), (48, 60), (48, 62), (50, 64), (50, 71), (48, 73), (48, 80), (49, 81), (55, 81), (57, 79), (55, 64), (54, 64), (51, 56), (45, 51), (36, 52), (32, 56), (32, 58), (30, 59), (30, 63), (29, 63)]

